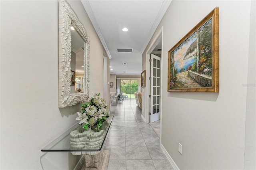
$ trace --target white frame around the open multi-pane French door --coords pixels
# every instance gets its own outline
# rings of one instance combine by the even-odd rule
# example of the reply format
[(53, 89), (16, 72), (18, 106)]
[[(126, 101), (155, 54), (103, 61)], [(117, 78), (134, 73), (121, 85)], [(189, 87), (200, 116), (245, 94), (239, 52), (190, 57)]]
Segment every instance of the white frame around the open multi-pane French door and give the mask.
[[(163, 56), (163, 37), (164, 37), (164, 27), (162, 26), (162, 28), (159, 30), (159, 32), (156, 35), (156, 38), (154, 38), (154, 40), (152, 41), (152, 43), (150, 43), (150, 46), (148, 48), (148, 50), (146, 51), (146, 93), (145, 93), (145, 99), (146, 99), (146, 103), (145, 103), (145, 119), (146, 119), (146, 123), (149, 123), (149, 119), (150, 119), (150, 115), (148, 115), (148, 113), (150, 112), (150, 102), (149, 102), (149, 94), (150, 94), (150, 84), (149, 84), (149, 77), (150, 77), (150, 53), (153, 51), (153, 49), (156, 47), (156, 45), (158, 45), (158, 43), (160, 41), (162, 41), (162, 51), (161, 51), (161, 58)], [(160, 124), (162, 125), (162, 75), (163, 75), (163, 62), (161, 61), (161, 75), (160, 75)], [(162, 133), (162, 129), (160, 130)]]

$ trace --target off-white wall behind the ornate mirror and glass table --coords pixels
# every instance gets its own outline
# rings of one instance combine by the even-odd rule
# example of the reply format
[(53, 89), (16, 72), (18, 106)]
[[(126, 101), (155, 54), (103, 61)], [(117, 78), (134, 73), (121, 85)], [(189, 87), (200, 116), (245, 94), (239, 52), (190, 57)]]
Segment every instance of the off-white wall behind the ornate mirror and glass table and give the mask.
[[(102, 44), (81, 2), (68, 3), (90, 37), (90, 92), (102, 93)], [(0, 1), (0, 12), (0, 169), (73, 169), (77, 156), (41, 152), (80, 109), (58, 108), (58, 1)]]

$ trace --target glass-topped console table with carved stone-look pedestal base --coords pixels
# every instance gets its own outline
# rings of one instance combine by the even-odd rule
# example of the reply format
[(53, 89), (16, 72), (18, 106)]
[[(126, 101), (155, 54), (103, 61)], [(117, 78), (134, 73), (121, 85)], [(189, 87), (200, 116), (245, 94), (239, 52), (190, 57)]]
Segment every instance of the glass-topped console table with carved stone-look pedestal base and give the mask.
[[(53, 140), (50, 144), (45, 146), (42, 152), (71, 152), (73, 155), (84, 154), (85, 164), (82, 170), (87, 168), (106, 169), (108, 166), (109, 151), (102, 150), (104, 141), (108, 134), (114, 115), (110, 114), (109, 124), (104, 127), (100, 132), (93, 132), (91, 130), (85, 133), (78, 132), (79, 125), (76, 124), (67, 130), (64, 134)], [(103, 127), (103, 126), (102, 126)], [(81, 135), (85, 134), (81, 137)], [(78, 137), (76, 137), (78, 135)], [(75, 137), (71, 137), (75, 136)], [(99, 136), (99, 140), (94, 138)], [(77, 144), (76, 141), (80, 143)], [(82, 144), (81, 144), (82, 142)]]

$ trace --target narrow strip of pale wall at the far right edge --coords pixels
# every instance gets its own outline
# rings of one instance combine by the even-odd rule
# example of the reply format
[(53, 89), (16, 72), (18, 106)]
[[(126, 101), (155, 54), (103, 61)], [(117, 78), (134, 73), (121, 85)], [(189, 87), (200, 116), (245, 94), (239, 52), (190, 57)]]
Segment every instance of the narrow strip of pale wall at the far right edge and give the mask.
[(244, 169), (256, 169), (256, 1), (252, 1), (248, 57)]

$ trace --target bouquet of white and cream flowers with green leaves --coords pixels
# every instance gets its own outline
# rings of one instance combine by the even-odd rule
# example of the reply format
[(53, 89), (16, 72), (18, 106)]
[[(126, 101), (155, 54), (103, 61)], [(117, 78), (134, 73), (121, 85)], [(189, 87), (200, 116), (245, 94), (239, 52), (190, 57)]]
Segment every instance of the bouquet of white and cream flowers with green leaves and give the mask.
[(79, 125), (84, 124), (83, 128), (88, 130), (90, 127), (95, 127), (95, 130), (100, 130), (102, 123), (107, 120), (108, 115), (108, 106), (106, 101), (100, 98), (100, 93), (93, 94), (92, 97), (89, 97), (85, 103), (81, 103), (82, 108), (78, 112), (78, 117), (76, 120), (80, 121)]

